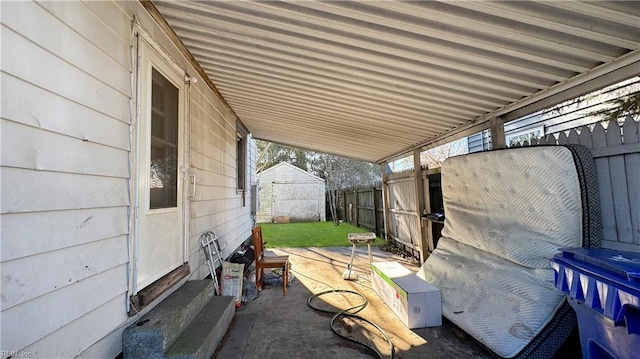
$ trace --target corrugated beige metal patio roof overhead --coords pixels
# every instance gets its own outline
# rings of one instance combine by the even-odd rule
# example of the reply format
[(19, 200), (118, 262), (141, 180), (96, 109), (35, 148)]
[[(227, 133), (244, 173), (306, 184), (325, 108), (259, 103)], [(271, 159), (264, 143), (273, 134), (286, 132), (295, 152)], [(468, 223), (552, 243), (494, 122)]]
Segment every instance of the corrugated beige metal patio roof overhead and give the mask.
[(640, 72), (635, 1), (153, 4), (255, 138), (370, 162)]

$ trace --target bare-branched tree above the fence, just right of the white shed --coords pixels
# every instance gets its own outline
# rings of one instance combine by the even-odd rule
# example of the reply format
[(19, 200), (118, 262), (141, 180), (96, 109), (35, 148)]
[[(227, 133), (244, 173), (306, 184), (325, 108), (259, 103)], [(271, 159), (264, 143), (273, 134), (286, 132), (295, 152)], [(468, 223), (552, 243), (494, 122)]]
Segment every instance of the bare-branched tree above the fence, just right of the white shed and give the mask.
[(314, 154), (311, 169), (325, 180), (329, 194), (329, 210), (336, 226), (340, 224), (337, 190), (373, 184), (381, 178), (380, 167), (373, 163), (329, 154)]

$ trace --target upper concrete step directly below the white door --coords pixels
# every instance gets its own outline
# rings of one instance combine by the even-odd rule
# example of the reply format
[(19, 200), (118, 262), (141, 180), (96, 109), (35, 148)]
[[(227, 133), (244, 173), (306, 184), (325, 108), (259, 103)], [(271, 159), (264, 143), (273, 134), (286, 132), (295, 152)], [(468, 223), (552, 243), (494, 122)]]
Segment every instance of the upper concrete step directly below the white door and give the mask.
[[(212, 280), (185, 283), (122, 334), (125, 358), (160, 358), (214, 297)], [(225, 329), (226, 330), (226, 329)]]

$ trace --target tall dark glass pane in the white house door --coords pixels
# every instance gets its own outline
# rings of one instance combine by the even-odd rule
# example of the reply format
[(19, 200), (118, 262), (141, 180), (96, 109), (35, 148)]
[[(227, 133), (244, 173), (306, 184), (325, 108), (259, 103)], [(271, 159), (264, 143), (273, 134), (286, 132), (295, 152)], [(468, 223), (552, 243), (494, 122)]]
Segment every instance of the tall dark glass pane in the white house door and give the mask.
[(156, 69), (151, 76), (150, 209), (178, 203), (178, 88)]

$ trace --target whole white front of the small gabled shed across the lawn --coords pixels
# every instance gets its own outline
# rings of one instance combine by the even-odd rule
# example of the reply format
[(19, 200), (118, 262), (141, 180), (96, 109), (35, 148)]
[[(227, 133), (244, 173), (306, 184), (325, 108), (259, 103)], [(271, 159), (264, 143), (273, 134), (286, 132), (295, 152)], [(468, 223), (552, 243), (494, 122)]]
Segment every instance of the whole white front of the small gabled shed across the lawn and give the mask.
[(256, 221), (274, 217), (292, 221), (326, 221), (324, 180), (283, 162), (258, 175), (260, 209)]

